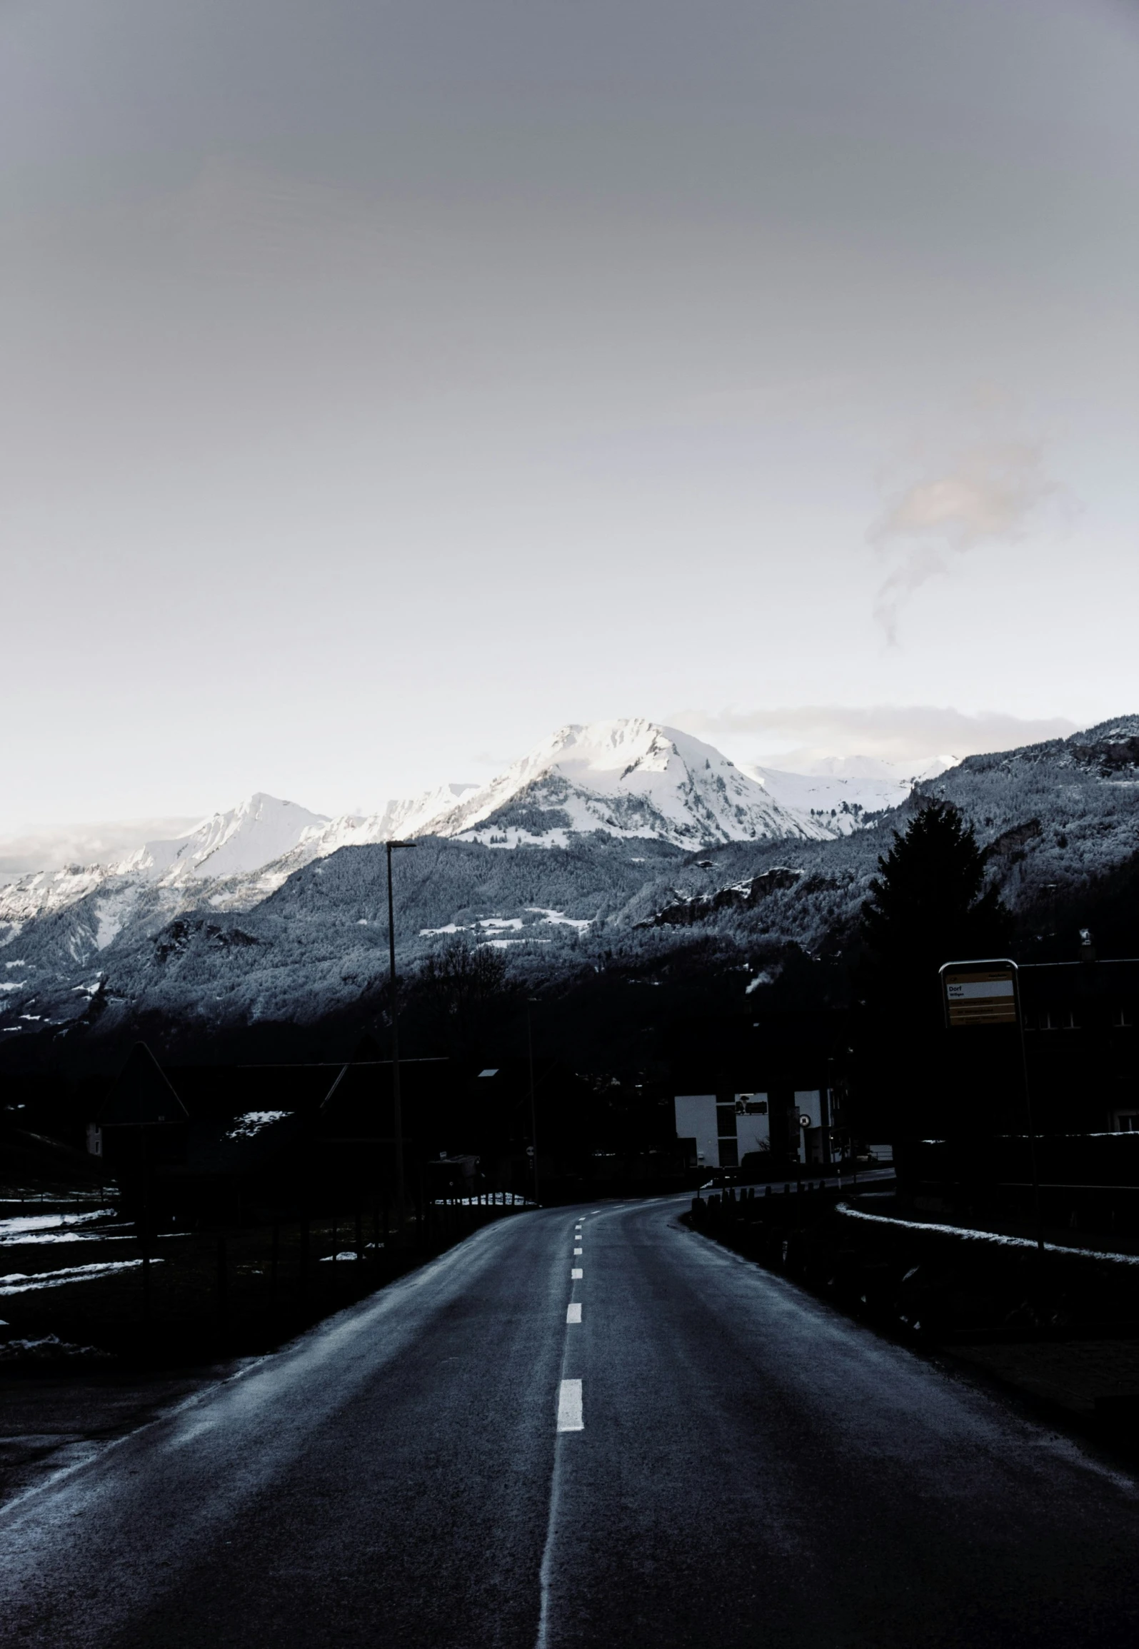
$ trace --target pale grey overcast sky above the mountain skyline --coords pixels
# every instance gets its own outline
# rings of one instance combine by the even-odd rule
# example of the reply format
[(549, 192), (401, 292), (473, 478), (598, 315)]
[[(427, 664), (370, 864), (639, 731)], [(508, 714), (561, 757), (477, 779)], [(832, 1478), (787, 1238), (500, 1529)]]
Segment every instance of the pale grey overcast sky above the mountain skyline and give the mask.
[(1139, 709), (1134, 3), (10, 0), (0, 110), (0, 831)]

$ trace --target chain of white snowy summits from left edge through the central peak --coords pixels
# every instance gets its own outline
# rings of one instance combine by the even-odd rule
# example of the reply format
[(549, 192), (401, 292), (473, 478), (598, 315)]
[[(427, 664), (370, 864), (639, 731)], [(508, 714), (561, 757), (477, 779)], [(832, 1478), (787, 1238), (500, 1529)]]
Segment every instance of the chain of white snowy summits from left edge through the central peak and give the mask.
[[(607, 831), (702, 848), (720, 841), (825, 839), (842, 823), (773, 796), (710, 744), (644, 719), (561, 727), (487, 785), (437, 785), (366, 816), (328, 818), (262, 792), (185, 836), (149, 841), (116, 864), (40, 871), (0, 887), (8, 937), (36, 915), (99, 894), (92, 932), (106, 943), (144, 889), (167, 917), (190, 904), (248, 909), (294, 871), (340, 848), (396, 836), (449, 836), (515, 848), (565, 846)], [(107, 904), (111, 900), (111, 904)]]

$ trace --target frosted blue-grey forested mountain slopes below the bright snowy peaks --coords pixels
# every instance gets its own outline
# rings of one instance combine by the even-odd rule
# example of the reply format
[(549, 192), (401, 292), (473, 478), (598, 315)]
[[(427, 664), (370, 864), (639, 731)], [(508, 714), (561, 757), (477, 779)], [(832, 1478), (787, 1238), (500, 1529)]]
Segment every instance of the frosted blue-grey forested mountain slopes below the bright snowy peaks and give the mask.
[[(650, 760), (640, 790), (627, 787), (634, 811), (647, 805), (645, 792), (654, 806), (687, 795), (688, 765), (670, 775), (673, 752), (664, 747)], [(396, 856), (404, 975), (418, 976), (441, 945), (464, 943), (499, 948), (532, 988), (614, 968), (650, 981), (670, 956), (703, 945), (718, 968), (735, 970), (740, 993), (754, 989), (761, 976), (779, 975), (791, 950), (837, 955), (848, 943), (893, 831), (934, 800), (952, 801), (976, 828), (989, 877), (1014, 914), (1056, 904), (1076, 910), (1106, 874), (1139, 864), (1139, 716), (967, 757), (858, 829), (728, 836), (698, 848), (637, 834), (642, 816), (624, 821), (626, 834), (621, 820), (617, 829), (604, 821), (568, 828), (555, 815), (568, 798), (578, 805), (588, 787), (574, 783), (579, 773), (555, 773), (556, 765), (546, 762), (536, 780), (517, 773), (513, 787), (466, 813), (462, 795), (452, 796), (456, 834), (424, 833), (414, 853)], [(707, 772), (715, 778), (715, 768)], [(545, 798), (535, 796), (538, 780)], [(713, 800), (730, 808), (723, 795), (716, 790)], [(485, 818), (474, 820), (484, 806)], [(505, 833), (510, 808), (523, 821), (510, 826), (518, 833), (513, 851), (470, 839), (482, 829)], [(528, 824), (527, 810), (535, 815)], [(541, 846), (522, 839), (523, 826)], [(556, 833), (565, 841), (551, 841)], [(347, 843), (292, 867), (274, 861), (228, 879), (183, 869), (167, 882), (117, 876), (91, 886), (78, 871), (73, 882), (69, 904), (0, 933), (0, 1042), (8, 1047), (111, 1034), (139, 1014), (185, 1021), (201, 1034), (314, 1024), (383, 996), (380, 843)]]

